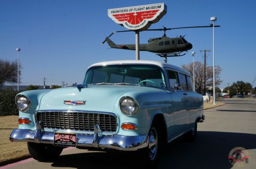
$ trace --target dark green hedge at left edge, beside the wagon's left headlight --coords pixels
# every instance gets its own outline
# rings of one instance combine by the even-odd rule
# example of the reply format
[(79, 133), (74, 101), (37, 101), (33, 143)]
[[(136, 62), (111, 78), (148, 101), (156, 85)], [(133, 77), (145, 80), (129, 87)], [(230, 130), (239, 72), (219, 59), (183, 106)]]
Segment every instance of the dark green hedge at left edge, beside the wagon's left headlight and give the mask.
[(0, 90), (0, 116), (18, 115), (15, 104), (15, 96), (18, 93), (20, 91)]

